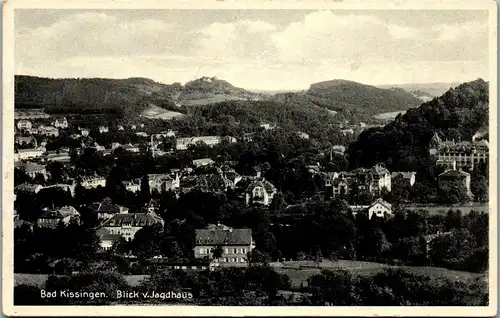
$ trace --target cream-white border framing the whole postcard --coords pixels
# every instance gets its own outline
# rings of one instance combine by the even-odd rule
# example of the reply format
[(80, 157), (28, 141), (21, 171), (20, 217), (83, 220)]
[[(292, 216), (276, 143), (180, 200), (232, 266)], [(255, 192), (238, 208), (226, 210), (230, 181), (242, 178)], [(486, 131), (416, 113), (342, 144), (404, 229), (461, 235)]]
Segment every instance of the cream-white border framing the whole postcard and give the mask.
[[(4, 0), (2, 172), (2, 304), (6, 316), (475, 316), (497, 315), (497, 3), (492, 0)], [(490, 36), (490, 267), (488, 307), (224, 307), (210, 306), (13, 306), (14, 9), (357, 9), (488, 10)]]

